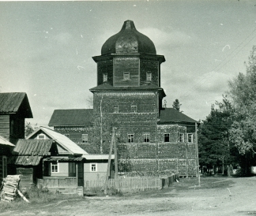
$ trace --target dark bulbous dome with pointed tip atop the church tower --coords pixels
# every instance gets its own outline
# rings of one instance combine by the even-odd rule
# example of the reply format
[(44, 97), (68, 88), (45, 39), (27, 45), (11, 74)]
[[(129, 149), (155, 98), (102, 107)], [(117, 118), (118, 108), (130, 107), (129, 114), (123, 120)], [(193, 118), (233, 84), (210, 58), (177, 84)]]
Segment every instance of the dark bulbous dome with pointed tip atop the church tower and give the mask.
[(152, 40), (137, 32), (132, 20), (126, 20), (121, 31), (107, 39), (101, 48), (101, 55), (126, 53), (156, 54)]

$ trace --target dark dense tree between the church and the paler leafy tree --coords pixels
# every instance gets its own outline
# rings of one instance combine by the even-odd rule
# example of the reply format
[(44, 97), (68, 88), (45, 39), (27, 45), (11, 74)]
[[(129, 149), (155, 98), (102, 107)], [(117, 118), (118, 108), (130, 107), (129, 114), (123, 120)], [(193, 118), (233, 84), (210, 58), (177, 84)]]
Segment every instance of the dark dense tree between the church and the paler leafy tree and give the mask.
[(224, 96), (222, 102), (216, 102), (216, 106), (218, 108), (212, 106), (211, 113), (198, 130), (199, 162), (207, 169), (219, 167), (221, 170), (222, 167), (224, 173), (224, 166), (229, 171), (229, 165), (233, 162), (229, 137), (233, 108), (227, 96)]

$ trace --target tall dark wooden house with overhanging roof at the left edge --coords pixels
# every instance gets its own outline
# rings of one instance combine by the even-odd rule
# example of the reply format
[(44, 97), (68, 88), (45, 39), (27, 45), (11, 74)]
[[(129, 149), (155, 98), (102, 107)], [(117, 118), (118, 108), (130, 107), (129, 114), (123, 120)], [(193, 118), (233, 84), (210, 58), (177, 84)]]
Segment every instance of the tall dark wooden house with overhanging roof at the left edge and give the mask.
[(25, 118), (32, 118), (24, 92), (0, 93), (0, 135), (10, 143), (24, 139)]

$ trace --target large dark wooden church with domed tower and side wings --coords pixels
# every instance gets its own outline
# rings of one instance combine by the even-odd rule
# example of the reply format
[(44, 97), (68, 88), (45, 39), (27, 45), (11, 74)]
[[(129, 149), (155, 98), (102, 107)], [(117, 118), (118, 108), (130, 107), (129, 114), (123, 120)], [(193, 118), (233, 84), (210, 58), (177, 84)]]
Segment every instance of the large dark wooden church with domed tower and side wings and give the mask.
[(163, 106), (160, 65), (152, 40), (126, 20), (103, 44), (97, 64), (93, 109), (55, 110), (49, 122), (88, 153), (107, 154), (115, 127), (119, 171), (173, 170), (197, 174), (198, 121)]

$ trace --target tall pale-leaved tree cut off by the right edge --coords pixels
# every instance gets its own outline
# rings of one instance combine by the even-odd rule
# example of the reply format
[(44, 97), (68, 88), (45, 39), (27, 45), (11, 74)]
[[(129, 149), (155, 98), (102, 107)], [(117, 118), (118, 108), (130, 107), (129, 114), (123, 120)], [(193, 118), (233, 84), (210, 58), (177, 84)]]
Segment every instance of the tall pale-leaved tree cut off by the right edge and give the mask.
[[(235, 109), (230, 136), (241, 155), (244, 173), (255, 163), (256, 153), (256, 46), (252, 48), (246, 73), (229, 82), (228, 94)], [(255, 164), (256, 165), (256, 164)]]

